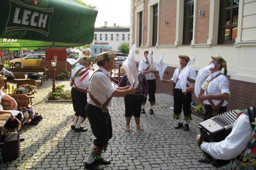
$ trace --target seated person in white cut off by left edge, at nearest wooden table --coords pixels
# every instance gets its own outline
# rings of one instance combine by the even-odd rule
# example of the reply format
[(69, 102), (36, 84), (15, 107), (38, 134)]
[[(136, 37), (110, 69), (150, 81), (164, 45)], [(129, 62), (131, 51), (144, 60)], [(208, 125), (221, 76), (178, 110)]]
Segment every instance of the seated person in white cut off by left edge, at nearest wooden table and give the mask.
[[(0, 75), (0, 88), (2, 88), (4, 86), (3, 80), (5, 80), (5, 79), (6, 79), (6, 77), (4, 77), (3, 75)], [(1, 103), (2, 99), (9, 100), (11, 107), (17, 108), (17, 105), (18, 105), (17, 102), (9, 95), (0, 91), (0, 103)], [(16, 129), (19, 126), (20, 120), (23, 117), (23, 114), (20, 111), (16, 111), (16, 110), (5, 111), (5, 110), (3, 110), (2, 105), (0, 105), (0, 114), (1, 113), (10, 113), (11, 114), (9, 120), (7, 121), (7, 123), (4, 126), (7, 129), (11, 129), (11, 130)]]

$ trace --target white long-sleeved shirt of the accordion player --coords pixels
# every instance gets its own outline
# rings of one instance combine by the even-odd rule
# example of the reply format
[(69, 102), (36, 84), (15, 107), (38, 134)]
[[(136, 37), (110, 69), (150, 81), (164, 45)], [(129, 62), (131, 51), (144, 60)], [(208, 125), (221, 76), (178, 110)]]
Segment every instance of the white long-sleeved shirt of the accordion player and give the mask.
[(249, 116), (241, 114), (236, 120), (231, 133), (220, 142), (203, 142), (201, 149), (214, 159), (229, 160), (237, 157), (247, 147), (252, 135)]

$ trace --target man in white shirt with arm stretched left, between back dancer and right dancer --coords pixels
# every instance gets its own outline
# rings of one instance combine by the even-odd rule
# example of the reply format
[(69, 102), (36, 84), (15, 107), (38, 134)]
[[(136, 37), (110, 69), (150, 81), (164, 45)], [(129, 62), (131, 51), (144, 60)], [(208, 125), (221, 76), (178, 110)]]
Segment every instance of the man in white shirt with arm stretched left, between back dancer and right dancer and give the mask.
[[(179, 56), (180, 58), (180, 67), (175, 69), (173, 77), (170, 80), (165, 80), (162, 79), (162, 83), (176, 83), (175, 88), (174, 88), (174, 114), (173, 117), (174, 119), (178, 120), (177, 126), (175, 126), (175, 129), (179, 129), (183, 127), (183, 121), (182, 117), (180, 116), (181, 114), (181, 108), (183, 105), (183, 112), (184, 112), (184, 120), (185, 120), (185, 125), (184, 125), (184, 131), (189, 130), (189, 125), (188, 123), (192, 120), (191, 117), (191, 92), (183, 93), (182, 92), (182, 86), (181, 86), (181, 80), (178, 78), (182, 69), (184, 69), (187, 66), (187, 63), (190, 61), (190, 58), (188, 56)], [(187, 76), (187, 87), (193, 86), (194, 82), (196, 81), (197, 74), (196, 71), (193, 68), (190, 68), (189, 74)]]

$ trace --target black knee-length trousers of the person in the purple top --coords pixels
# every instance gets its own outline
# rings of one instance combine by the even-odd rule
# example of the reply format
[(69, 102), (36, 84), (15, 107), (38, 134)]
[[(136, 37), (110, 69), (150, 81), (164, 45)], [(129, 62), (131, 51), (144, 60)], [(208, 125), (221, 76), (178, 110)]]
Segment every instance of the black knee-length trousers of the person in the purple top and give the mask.
[(125, 117), (141, 117), (141, 104), (144, 95), (126, 95), (125, 96)]

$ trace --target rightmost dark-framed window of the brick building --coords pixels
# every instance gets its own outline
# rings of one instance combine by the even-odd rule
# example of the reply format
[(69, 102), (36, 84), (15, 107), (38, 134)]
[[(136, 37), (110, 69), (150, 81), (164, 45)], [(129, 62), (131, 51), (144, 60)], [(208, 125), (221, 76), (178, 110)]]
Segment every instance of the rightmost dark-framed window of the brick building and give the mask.
[(239, 0), (220, 1), (218, 44), (233, 44), (237, 36)]

